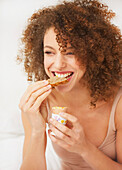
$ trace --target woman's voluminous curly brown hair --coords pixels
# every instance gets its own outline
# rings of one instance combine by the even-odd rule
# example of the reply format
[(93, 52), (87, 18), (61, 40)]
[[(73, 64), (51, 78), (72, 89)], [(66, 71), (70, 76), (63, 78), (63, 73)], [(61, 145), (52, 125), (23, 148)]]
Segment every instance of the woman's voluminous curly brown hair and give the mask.
[(120, 86), (121, 33), (111, 24), (115, 13), (98, 0), (74, 0), (39, 9), (28, 20), (23, 32), (22, 53), (28, 80), (47, 78), (44, 70), (43, 39), (47, 29), (55, 28), (56, 39), (63, 51), (67, 42), (74, 48), (76, 59), (86, 66), (84, 80), (92, 97), (108, 100), (112, 87)]

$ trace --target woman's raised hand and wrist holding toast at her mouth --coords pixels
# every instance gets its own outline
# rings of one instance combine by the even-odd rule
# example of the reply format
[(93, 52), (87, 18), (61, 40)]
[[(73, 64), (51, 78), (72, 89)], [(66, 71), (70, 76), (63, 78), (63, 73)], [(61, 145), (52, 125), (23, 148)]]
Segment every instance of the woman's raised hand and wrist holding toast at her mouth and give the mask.
[(35, 82), (27, 88), (22, 96), (19, 108), (30, 122), (32, 133), (44, 132), (46, 129), (47, 110), (45, 100), (51, 93), (48, 81)]

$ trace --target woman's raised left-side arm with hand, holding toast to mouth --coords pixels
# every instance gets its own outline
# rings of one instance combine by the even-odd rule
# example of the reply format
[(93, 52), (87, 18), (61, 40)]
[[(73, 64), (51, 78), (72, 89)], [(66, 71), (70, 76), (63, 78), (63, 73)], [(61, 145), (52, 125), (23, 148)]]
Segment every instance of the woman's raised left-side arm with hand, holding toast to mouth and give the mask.
[(46, 170), (46, 121), (45, 101), (51, 93), (48, 81), (30, 85), (20, 100), (25, 130), (21, 170)]

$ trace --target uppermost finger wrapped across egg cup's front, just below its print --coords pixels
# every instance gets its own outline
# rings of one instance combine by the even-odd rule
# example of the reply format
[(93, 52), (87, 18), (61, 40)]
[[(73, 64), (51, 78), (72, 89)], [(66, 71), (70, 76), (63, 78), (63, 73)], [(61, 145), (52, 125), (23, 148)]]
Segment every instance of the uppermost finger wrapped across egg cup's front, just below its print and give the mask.
[(59, 129), (61, 132), (63, 132), (64, 134), (66, 134), (67, 136), (73, 136), (73, 132), (71, 129), (69, 129), (67, 126), (61, 124), (60, 122), (58, 122), (57, 120), (51, 118), (49, 120), (49, 122), (55, 126), (57, 129)]

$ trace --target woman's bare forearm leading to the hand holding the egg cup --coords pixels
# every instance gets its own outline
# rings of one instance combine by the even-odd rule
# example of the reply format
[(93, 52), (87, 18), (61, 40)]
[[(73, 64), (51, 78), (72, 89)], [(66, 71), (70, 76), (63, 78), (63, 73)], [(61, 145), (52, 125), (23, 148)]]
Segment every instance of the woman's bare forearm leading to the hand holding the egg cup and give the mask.
[[(122, 162), (113, 161), (91, 143), (87, 144), (81, 156), (94, 170), (122, 170)], [(118, 156), (122, 159), (122, 152)]]

